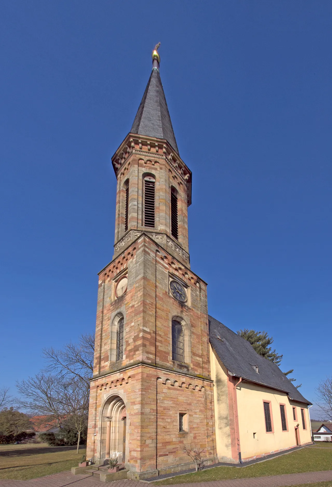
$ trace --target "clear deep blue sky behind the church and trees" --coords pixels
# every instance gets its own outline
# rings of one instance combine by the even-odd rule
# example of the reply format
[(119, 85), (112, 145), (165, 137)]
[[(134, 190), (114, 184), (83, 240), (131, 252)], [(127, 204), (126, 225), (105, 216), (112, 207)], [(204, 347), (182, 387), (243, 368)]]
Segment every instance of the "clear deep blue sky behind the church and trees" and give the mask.
[(94, 329), (96, 274), (114, 243), (111, 155), (161, 41), (209, 312), (272, 335), (281, 369), (314, 401), (332, 373), (331, 1), (0, 10), (0, 386), (15, 393), (43, 366), (42, 348)]

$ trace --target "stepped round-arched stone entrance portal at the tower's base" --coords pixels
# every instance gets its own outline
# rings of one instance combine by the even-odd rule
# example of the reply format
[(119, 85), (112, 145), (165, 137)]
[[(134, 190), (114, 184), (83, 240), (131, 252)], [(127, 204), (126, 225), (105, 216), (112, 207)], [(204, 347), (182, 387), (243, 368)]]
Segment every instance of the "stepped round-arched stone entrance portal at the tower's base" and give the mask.
[(113, 396), (105, 404), (102, 418), (101, 458), (118, 455), (119, 463), (126, 461), (127, 412), (121, 397)]

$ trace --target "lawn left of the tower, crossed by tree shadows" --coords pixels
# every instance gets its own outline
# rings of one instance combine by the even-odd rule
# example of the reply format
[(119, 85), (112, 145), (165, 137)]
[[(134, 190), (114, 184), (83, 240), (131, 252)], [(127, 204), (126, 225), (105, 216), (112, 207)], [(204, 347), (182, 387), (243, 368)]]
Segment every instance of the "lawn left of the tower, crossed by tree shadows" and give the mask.
[(46, 443), (0, 445), (0, 479), (30, 480), (77, 467), (85, 448), (49, 447)]

